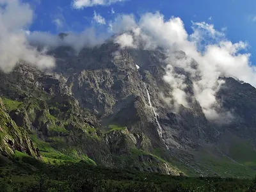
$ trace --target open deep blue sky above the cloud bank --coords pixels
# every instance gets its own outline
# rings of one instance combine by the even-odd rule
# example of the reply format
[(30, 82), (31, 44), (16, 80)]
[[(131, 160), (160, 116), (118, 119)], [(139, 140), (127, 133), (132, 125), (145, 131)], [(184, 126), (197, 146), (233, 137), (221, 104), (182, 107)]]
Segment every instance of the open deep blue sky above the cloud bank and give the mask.
[[(232, 42), (240, 40), (250, 44), (252, 61), (256, 63), (256, 1), (254, 0), (127, 0), (106, 6), (90, 6), (83, 9), (72, 7), (71, 0), (24, 0), (33, 7), (35, 19), (31, 31), (83, 31), (88, 26), (97, 26), (93, 12), (100, 14), (106, 22), (117, 14), (133, 13), (140, 17), (146, 12), (161, 12), (165, 19), (180, 17), (188, 33), (191, 33), (191, 20), (208, 22), (216, 29), (226, 29), (227, 38)], [(115, 14), (111, 14), (111, 9)], [(255, 20), (253, 20), (255, 18)], [(54, 20), (59, 19), (62, 26), (56, 28)], [(106, 27), (105, 27), (106, 28)]]

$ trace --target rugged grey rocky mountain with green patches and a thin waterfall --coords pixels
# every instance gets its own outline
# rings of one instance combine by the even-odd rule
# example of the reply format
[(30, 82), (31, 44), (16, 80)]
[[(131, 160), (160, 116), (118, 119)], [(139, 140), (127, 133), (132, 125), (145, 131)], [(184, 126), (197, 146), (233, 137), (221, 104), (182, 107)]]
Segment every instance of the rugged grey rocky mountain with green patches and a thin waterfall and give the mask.
[[(163, 95), (172, 97), (173, 90), (163, 80), (161, 49), (106, 42), (78, 54), (70, 47), (49, 54), (56, 58), (51, 73), (20, 62), (0, 74), (3, 156), (18, 150), (49, 163), (83, 160), (172, 175), (255, 174), (256, 89), (250, 84), (222, 77), (217, 98), (235, 118), (216, 124), (193, 99), (192, 81), (181, 68), (175, 72), (186, 76), (189, 108), (166, 104)], [(239, 157), (237, 145), (247, 156)]]

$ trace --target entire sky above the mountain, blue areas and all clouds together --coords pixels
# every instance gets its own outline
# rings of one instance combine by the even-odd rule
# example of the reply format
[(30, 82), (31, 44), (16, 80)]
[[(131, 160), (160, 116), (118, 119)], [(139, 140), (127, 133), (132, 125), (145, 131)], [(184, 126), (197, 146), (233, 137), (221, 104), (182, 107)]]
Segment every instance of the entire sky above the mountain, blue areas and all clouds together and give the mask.
[[(195, 97), (211, 119), (219, 116), (215, 109), (221, 107), (215, 98), (225, 83), (220, 76), (256, 87), (255, 0), (0, 0), (0, 6), (0, 70), (4, 72), (12, 71), (20, 60), (51, 70), (56, 62), (45, 54), (47, 49), (64, 45), (79, 52), (120, 33), (113, 38), (120, 45), (114, 58), (124, 47), (163, 47), (170, 56), (163, 79), (173, 88), (172, 99), (188, 104), (184, 76), (173, 70), (178, 66), (199, 79), (193, 81)], [(60, 32), (72, 33), (61, 39), (56, 36)], [(39, 51), (31, 44), (45, 49)], [(180, 50), (186, 58), (177, 60), (173, 51)], [(193, 59), (196, 69), (191, 66)]]

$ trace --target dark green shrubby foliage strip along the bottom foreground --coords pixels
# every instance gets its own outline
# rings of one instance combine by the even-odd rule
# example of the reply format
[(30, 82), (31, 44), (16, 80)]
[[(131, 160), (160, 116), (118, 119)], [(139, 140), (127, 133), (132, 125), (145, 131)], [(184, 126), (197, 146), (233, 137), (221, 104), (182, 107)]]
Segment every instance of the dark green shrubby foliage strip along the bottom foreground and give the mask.
[(92, 166), (45, 164), (28, 156), (0, 162), (1, 191), (256, 191), (256, 179), (174, 177)]

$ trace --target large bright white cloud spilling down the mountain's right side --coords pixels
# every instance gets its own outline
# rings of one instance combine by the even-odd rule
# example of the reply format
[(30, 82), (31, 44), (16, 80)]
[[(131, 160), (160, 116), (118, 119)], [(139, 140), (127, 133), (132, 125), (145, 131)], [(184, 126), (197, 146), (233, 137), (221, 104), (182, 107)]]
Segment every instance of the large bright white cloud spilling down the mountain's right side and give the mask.
[[(256, 87), (256, 68), (250, 63), (246, 42), (230, 42), (223, 31), (217, 31), (212, 24), (192, 22), (193, 33), (188, 34), (179, 17), (166, 20), (157, 12), (141, 15), (138, 22), (132, 15), (119, 16), (111, 23), (111, 29), (123, 31), (115, 39), (121, 48), (163, 47), (168, 55), (163, 79), (172, 89), (172, 98), (165, 100), (175, 100), (176, 105), (189, 107), (186, 98), (188, 84), (184, 81), (185, 77), (174, 70), (175, 67), (181, 68), (193, 81), (194, 97), (208, 120), (232, 120), (232, 113), (225, 111), (221, 101), (216, 99), (218, 90), (225, 84), (219, 77), (237, 77)], [(177, 51), (186, 54), (180, 56)]]

